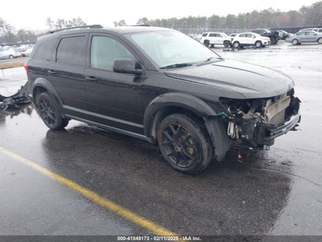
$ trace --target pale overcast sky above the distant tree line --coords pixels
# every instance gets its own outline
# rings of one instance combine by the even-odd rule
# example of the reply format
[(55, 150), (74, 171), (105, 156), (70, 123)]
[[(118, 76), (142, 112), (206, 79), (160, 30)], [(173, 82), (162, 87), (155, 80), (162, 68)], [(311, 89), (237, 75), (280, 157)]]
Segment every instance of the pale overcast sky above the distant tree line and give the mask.
[[(267, 8), (281, 11), (298, 10), (303, 5), (311, 5), (318, 0), (246, 0), (246, 1), (180, 1), (180, 0), (29, 0), (29, 1), (1, 1), (0, 17), (12, 24), (17, 30), (46, 29), (46, 18), (53, 20), (63, 18), (82, 17), (87, 24), (101, 24), (113, 26), (114, 21), (125, 19), (128, 25), (136, 24), (142, 17), (156, 18), (182, 18), (192, 16), (211, 16), (213, 14), (226, 16), (262, 10)], [(206, 4), (207, 3), (207, 4)], [(290, 4), (291, 3), (291, 4)]]

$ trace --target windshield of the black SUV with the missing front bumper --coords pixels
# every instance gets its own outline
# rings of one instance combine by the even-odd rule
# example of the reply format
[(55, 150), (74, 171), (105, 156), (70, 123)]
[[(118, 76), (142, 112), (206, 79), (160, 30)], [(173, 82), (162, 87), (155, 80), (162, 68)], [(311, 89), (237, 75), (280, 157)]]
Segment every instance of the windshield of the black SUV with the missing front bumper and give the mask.
[(220, 58), (200, 42), (177, 31), (133, 33), (127, 35), (127, 38), (134, 42), (158, 68)]

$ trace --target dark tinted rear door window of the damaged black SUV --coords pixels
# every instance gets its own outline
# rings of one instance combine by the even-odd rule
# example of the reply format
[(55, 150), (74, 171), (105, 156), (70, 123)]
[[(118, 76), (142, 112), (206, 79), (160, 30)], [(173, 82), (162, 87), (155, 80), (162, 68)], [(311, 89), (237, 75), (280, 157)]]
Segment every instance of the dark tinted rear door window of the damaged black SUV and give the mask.
[(86, 38), (86, 36), (62, 38), (57, 47), (56, 62), (85, 66)]

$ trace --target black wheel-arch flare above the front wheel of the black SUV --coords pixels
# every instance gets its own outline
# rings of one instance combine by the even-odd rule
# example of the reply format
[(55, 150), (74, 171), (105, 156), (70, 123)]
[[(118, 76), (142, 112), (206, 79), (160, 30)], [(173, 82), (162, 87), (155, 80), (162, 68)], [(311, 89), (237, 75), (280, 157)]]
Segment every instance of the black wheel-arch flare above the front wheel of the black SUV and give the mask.
[(176, 106), (186, 108), (199, 116), (215, 116), (216, 112), (198, 97), (180, 93), (169, 92), (154, 98), (147, 106), (144, 113), (144, 135), (151, 137), (151, 124), (155, 113), (162, 107)]

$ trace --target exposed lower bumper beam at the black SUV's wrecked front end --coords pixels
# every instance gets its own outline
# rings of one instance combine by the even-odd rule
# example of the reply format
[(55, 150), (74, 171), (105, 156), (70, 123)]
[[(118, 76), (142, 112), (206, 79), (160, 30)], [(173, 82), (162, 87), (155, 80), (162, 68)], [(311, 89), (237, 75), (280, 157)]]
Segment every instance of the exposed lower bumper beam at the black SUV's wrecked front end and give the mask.
[(298, 123), (301, 121), (301, 115), (295, 114), (290, 119), (280, 126), (276, 125), (263, 125), (258, 127), (259, 132), (257, 135), (257, 143), (260, 145), (273, 145), (274, 139), (278, 136), (284, 135), (291, 130), (296, 130)]

